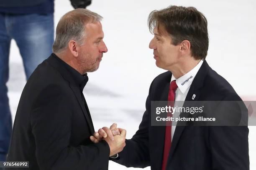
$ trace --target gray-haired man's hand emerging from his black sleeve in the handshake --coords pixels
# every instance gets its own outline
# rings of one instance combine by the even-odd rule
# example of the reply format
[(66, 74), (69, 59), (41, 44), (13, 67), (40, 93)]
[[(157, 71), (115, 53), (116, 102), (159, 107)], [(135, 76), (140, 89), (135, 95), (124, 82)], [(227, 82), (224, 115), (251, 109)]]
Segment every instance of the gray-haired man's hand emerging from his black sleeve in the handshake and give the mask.
[(125, 136), (126, 130), (118, 128), (120, 135), (115, 135), (114, 140), (110, 140), (109, 138), (104, 138), (110, 148), (110, 156), (120, 153), (125, 147)]

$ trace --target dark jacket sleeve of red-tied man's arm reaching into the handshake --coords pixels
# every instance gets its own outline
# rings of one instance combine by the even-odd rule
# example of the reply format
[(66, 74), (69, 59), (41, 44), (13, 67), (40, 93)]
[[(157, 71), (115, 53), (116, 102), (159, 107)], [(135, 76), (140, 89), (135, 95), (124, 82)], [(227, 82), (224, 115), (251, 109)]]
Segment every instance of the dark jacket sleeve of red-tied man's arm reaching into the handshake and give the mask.
[[(154, 80), (153, 80), (154, 82)], [(125, 165), (126, 167), (145, 168), (150, 166), (149, 156), (149, 135), (148, 130), (150, 127), (150, 113), (151, 113), (151, 87), (149, 88), (149, 94), (146, 100), (146, 111), (143, 114), (142, 121), (139, 125), (139, 129), (133, 135), (130, 140), (125, 140), (125, 148), (119, 153), (119, 157), (113, 160), (116, 163)]]

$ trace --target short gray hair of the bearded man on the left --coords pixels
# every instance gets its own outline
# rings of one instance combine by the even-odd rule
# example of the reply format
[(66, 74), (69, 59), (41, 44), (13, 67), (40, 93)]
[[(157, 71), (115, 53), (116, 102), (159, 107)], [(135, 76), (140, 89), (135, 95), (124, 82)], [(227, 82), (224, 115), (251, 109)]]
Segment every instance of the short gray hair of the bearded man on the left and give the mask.
[(67, 48), (70, 40), (75, 40), (82, 45), (82, 40), (86, 36), (84, 25), (101, 20), (102, 16), (87, 9), (78, 8), (66, 13), (57, 25), (56, 38), (52, 46), (53, 52), (62, 52)]

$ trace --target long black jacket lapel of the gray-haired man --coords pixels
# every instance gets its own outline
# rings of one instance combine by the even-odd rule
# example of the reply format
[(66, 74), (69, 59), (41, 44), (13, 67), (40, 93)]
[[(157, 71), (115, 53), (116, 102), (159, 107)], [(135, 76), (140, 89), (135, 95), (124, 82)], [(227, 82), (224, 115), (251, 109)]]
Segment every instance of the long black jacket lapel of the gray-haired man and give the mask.
[(49, 64), (51, 66), (53, 66), (56, 70), (59, 71), (59, 73), (62, 75), (62, 77), (69, 82), (69, 87), (72, 89), (72, 91), (74, 92), (74, 95), (77, 99), (77, 102), (79, 103), (82, 112), (84, 113), (84, 117), (87, 121), (87, 124), (89, 126), (90, 129), (90, 133), (93, 134), (95, 132), (91, 118), (90, 118), (90, 112), (88, 109), (88, 106), (82, 101), (82, 97), (81, 97), (81, 92), (79, 87), (77, 87), (74, 84), (74, 79), (72, 78), (72, 76), (70, 75), (70, 73), (67, 71), (67, 69), (56, 59), (54, 58), (53, 54), (47, 59), (47, 61), (49, 62)]

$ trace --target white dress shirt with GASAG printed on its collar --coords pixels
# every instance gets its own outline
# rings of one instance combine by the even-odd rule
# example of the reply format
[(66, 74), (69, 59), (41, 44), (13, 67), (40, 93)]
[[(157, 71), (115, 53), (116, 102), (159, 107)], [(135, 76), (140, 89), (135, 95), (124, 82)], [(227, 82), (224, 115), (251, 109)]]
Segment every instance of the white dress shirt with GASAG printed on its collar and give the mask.
[[(173, 80), (176, 80), (176, 84), (178, 86), (177, 90), (175, 91), (174, 107), (175, 106), (178, 106), (178, 107), (183, 106), (183, 103), (184, 103), (184, 101), (187, 97), (187, 93), (189, 91), (189, 88), (190, 88), (198, 70), (200, 69), (202, 63), (203, 63), (203, 60), (201, 60), (192, 70), (187, 72), (185, 75), (182, 75), (178, 79), (176, 79), (172, 75), (171, 82)], [(183, 101), (183, 102), (179, 102), (179, 101)], [(173, 117), (179, 117), (179, 115), (180, 115), (180, 112), (175, 112)], [(173, 135), (174, 135), (174, 132), (175, 132), (175, 128), (176, 128), (176, 126), (172, 126), (172, 138), (173, 138)]]

